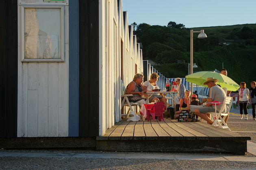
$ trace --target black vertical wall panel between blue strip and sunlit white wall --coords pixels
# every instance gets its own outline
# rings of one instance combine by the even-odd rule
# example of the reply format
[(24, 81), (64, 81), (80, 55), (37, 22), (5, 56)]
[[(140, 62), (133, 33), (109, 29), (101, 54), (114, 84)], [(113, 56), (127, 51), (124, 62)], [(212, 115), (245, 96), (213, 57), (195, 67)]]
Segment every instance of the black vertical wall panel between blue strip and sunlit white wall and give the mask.
[(79, 136), (98, 135), (99, 1), (79, 0)]

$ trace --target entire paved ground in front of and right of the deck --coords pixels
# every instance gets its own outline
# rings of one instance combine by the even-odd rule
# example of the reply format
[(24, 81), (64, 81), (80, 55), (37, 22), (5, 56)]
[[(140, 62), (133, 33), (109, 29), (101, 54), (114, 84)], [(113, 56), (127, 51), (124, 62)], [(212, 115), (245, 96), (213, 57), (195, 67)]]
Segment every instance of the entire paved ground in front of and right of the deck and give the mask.
[(232, 131), (251, 136), (244, 156), (210, 153), (115, 153), (85, 150), (2, 150), (0, 169), (256, 169), (256, 121), (232, 109)]

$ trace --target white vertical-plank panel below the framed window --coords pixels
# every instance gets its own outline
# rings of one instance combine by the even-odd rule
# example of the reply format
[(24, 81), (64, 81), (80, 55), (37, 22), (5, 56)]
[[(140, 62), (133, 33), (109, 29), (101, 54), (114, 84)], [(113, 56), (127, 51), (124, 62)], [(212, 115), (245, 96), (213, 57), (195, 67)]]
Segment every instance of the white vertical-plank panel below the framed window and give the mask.
[(68, 64), (18, 64), (18, 137), (68, 136)]

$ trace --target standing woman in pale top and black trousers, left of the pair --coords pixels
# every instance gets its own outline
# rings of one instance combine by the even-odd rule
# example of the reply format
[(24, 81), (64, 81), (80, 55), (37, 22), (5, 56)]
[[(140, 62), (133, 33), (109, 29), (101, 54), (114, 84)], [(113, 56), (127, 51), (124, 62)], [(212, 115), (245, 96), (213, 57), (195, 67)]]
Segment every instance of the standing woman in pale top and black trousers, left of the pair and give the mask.
[(247, 117), (247, 104), (249, 100), (249, 89), (246, 88), (245, 82), (240, 83), (239, 92), (239, 106), (240, 106), (240, 115), (241, 119), (243, 119), (243, 112), (245, 114), (245, 120), (248, 119)]

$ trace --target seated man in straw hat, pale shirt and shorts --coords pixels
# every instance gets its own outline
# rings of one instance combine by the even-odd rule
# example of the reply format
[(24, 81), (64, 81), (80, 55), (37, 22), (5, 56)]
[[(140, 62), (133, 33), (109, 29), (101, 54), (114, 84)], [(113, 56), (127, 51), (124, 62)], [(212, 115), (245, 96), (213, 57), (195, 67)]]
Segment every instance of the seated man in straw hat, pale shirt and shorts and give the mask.
[[(218, 79), (208, 77), (206, 79), (206, 82), (204, 83), (204, 85), (208, 85), (208, 87), (210, 88), (210, 98), (205, 99), (207, 102), (212, 102), (214, 100), (223, 102), (226, 97), (225, 91), (221, 87), (216, 85), (217, 81)], [(222, 104), (219, 104), (216, 107), (217, 111), (220, 110), (221, 106)], [(186, 108), (184, 108), (184, 110), (191, 110), (191, 112), (195, 112), (196, 115), (206, 120), (209, 124), (213, 124), (213, 121), (209, 118), (209, 115), (207, 114), (209, 112), (215, 112), (215, 106), (212, 104), (206, 104), (205, 106), (189, 105)]]

